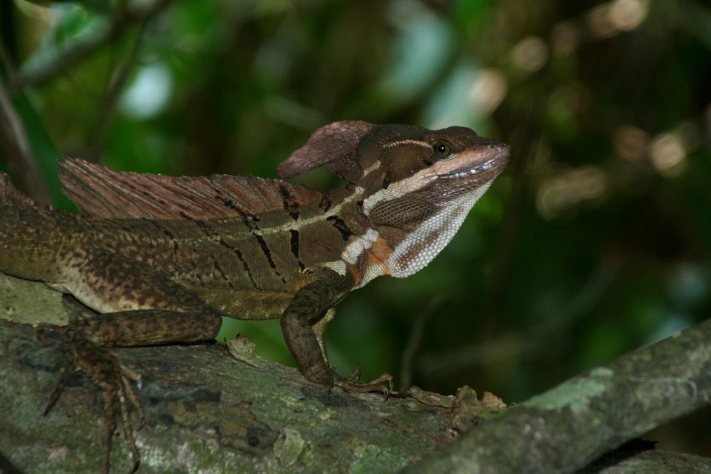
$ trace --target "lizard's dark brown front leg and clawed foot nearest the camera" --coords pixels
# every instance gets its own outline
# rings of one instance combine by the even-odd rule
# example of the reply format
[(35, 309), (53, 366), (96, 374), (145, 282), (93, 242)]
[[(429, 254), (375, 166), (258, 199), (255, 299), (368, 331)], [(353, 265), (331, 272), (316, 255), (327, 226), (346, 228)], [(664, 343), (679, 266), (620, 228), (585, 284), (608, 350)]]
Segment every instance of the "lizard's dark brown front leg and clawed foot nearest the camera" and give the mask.
[[(314, 332), (313, 326), (352, 287), (351, 280), (353, 277), (348, 272), (341, 276), (331, 269), (324, 269), (314, 281), (297, 291), (282, 314), (284, 340), (301, 374), (311, 382), (326, 387), (341, 387), (351, 392), (387, 394), (392, 390), (392, 377), (389, 374), (380, 375), (370, 382), (358, 382), (358, 369), (350, 377), (338, 375), (328, 366), (325, 352), (322, 352)], [(385, 382), (389, 382), (389, 388)]]

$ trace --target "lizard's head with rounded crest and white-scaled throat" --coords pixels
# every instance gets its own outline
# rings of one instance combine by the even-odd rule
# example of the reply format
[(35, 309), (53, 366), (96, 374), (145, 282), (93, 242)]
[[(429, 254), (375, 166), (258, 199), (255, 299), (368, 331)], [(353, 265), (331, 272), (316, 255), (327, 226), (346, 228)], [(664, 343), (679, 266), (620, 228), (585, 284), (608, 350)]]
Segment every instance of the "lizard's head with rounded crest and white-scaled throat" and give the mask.
[(336, 122), (279, 166), (289, 178), (319, 166), (363, 190), (363, 214), (387, 240), (389, 273), (426, 266), (508, 163), (509, 148), (462, 126)]

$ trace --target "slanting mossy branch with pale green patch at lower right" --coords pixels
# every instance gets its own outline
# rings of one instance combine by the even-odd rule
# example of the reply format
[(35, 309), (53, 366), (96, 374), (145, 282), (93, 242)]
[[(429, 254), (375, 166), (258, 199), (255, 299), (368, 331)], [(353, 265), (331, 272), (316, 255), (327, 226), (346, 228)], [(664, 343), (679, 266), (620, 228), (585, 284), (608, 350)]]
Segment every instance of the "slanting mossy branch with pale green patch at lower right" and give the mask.
[(711, 320), (544, 392), (403, 472), (572, 473), (711, 401)]

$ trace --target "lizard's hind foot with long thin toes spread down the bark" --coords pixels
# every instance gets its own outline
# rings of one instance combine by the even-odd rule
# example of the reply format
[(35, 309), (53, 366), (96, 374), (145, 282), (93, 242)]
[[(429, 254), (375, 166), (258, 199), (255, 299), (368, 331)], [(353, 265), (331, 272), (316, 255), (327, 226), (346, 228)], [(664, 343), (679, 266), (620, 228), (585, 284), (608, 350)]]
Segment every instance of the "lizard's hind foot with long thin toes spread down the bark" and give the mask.
[(131, 472), (135, 472), (141, 462), (141, 457), (133, 437), (133, 430), (129, 419), (129, 404), (133, 406), (137, 414), (141, 417), (141, 426), (139, 429), (143, 427), (145, 414), (136, 397), (134, 389), (131, 387), (130, 381), (138, 382), (140, 387), (140, 375), (134, 370), (120, 365), (107, 350), (100, 348), (73, 330), (68, 330), (62, 342), (62, 347), (67, 357), (67, 365), (65, 365), (62, 375), (60, 375), (57, 384), (55, 384), (50, 394), (44, 414), (46, 415), (55, 402), (57, 402), (69, 379), (74, 375), (74, 372), (84, 372), (92, 383), (101, 389), (104, 397), (104, 437), (102, 440), (104, 453), (102, 458), (102, 474), (109, 473), (111, 441), (117, 427), (115, 402), (119, 402), (124, 436), (126, 436), (126, 441), (129, 443), (131, 456), (133, 458)]

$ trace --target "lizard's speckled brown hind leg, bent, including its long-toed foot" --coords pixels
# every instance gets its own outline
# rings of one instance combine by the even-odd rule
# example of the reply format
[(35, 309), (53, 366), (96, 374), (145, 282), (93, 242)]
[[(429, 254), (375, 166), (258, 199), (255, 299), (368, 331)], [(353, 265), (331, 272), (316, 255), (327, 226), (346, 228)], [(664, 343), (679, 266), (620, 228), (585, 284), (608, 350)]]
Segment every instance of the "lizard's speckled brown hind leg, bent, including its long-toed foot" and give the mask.
[(74, 321), (65, 333), (62, 346), (67, 366), (50, 396), (50, 406), (71, 375), (84, 372), (101, 390), (105, 402), (102, 473), (109, 470), (112, 435), (119, 417), (135, 470), (140, 457), (129, 408), (141, 417), (142, 426), (144, 411), (131, 385), (132, 379), (138, 382), (140, 377), (122, 367), (106, 348), (213, 340), (222, 318), (194, 293), (144, 262), (87, 249), (77, 249), (67, 258), (67, 275), (60, 283), (101, 314)]

